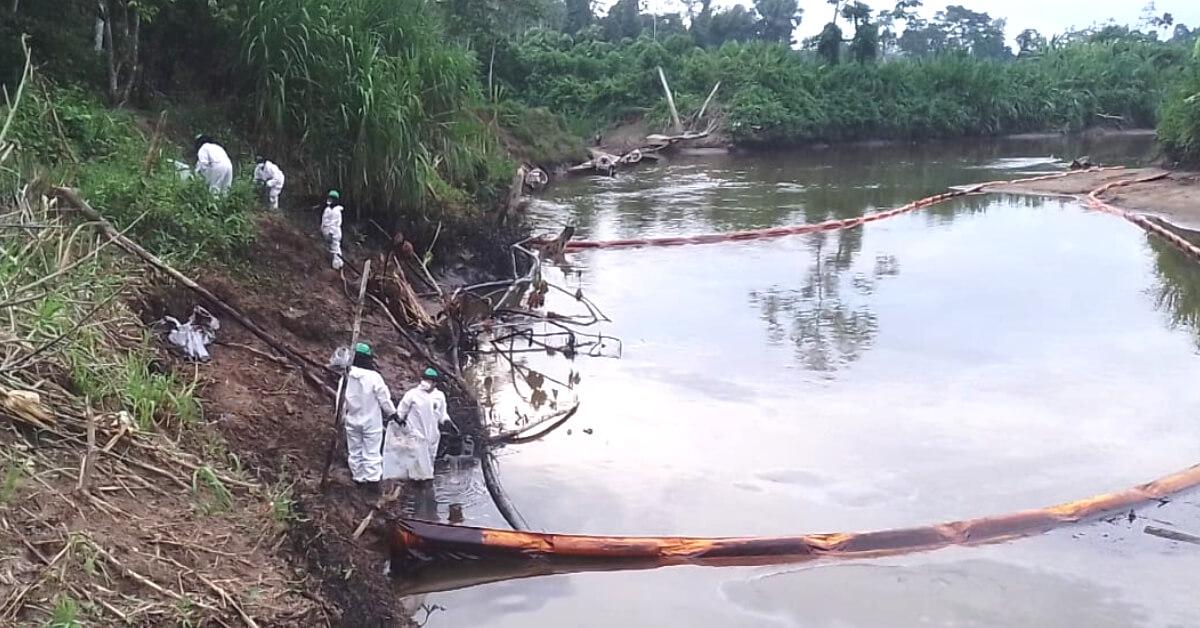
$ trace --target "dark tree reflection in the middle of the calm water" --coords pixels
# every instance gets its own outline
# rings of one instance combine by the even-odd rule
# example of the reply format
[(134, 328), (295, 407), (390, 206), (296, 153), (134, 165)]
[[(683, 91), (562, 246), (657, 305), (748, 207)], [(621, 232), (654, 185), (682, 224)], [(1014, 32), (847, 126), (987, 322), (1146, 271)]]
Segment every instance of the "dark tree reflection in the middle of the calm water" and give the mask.
[(810, 371), (829, 373), (857, 360), (878, 333), (870, 306), (853, 301), (874, 293), (876, 283), (898, 275), (900, 267), (894, 257), (881, 256), (871, 274), (846, 273), (862, 249), (862, 231), (838, 232), (832, 251), (829, 234), (812, 234), (814, 262), (799, 289), (774, 286), (750, 293), (750, 303), (767, 323), (767, 340), (773, 345), (790, 341), (797, 361)]

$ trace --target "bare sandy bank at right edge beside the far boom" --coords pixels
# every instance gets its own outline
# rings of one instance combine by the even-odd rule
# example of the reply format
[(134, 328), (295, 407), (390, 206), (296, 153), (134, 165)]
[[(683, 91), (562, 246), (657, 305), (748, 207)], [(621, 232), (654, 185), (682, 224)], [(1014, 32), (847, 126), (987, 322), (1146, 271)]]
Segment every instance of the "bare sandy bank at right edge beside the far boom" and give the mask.
[(1200, 231), (1200, 173), (1168, 172), (1157, 168), (1098, 171), (1062, 179), (989, 187), (994, 192), (1085, 196), (1115, 181), (1147, 179), (1153, 181), (1122, 186), (1102, 198), (1124, 209), (1157, 216), (1184, 231)]

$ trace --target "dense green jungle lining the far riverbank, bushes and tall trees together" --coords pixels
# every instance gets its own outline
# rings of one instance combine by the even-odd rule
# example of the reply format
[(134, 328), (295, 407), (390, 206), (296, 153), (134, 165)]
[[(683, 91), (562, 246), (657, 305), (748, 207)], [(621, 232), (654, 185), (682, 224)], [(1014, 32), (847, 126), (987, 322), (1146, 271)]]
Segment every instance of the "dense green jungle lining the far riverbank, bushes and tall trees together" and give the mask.
[(797, 4), (754, 5), (692, 2), (689, 28), (679, 16), (635, 17), (623, 2), (583, 28), (547, 20), (490, 41), (488, 76), (512, 97), (575, 120), (581, 133), (642, 115), (664, 125), (658, 66), (685, 115), (720, 82), (713, 113), (740, 143), (1069, 132), (1154, 126), (1196, 35), (1169, 14), (1148, 14), (1144, 30), (1106, 25), (1050, 38), (1025, 30), (1014, 52), (1004, 20), (961, 6), (926, 20), (914, 0), (877, 13), (829, 2), (838, 19), (794, 49)]

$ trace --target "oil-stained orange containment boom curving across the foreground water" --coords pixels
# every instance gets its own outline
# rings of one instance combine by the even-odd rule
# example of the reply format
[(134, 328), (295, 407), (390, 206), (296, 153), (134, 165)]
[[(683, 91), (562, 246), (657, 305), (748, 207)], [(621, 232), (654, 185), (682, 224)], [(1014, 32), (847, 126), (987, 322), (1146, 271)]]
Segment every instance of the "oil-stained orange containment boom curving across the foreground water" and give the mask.
[(1132, 489), (1049, 508), (877, 532), (794, 537), (595, 537), (516, 532), (400, 520), (392, 530), (395, 557), (562, 557), (572, 561), (631, 561), (640, 567), (684, 563), (769, 564), (805, 558), (864, 557), (995, 543), (1039, 534), (1105, 513), (1132, 509), (1200, 485), (1200, 465)]

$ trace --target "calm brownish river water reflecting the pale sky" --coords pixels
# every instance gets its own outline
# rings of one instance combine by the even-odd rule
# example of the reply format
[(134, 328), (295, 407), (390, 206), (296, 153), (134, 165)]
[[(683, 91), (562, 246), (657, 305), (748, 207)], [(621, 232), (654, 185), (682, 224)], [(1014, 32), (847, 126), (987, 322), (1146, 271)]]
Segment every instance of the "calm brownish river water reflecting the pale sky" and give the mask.
[[(688, 155), (556, 184), (532, 214), (592, 239), (844, 219), (1054, 172), (1146, 138)], [(1200, 462), (1200, 270), (1069, 199), (970, 197), (865, 227), (569, 253), (551, 281), (612, 319), (619, 359), (526, 355), (578, 414), (503, 450), (534, 530), (864, 531), (1049, 506)], [(577, 311), (551, 293), (547, 307)], [(613, 353), (612, 346), (607, 349)], [(512, 414), (506, 366), (497, 408)], [(522, 382), (523, 384), (523, 382)], [(504, 527), (478, 471), (442, 516)], [(426, 593), (428, 626), (1200, 626), (1200, 496), (1002, 544), (754, 568), (514, 579)], [(463, 574), (470, 574), (463, 567)], [(468, 579), (469, 580), (469, 579)]]

